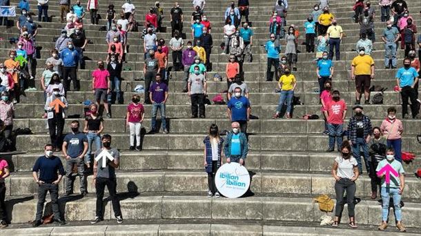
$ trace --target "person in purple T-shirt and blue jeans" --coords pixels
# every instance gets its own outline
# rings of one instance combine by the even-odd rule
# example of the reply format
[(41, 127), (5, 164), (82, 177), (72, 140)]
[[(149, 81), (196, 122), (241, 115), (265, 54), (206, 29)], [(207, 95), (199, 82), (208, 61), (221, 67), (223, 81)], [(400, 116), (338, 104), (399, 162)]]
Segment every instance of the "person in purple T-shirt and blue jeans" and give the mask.
[(161, 125), (162, 132), (168, 134), (165, 120), (165, 104), (168, 99), (168, 87), (164, 82), (161, 82), (161, 75), (157, 74), (155, 77), (155, 83), (150, 85), (149, 88), (149, 99), (152, 102), (152, 124), (149, 134), (155, 134), (159, 132), (159, 128), (156, 128), (157, 123), (157, 112), (161, 112)]

